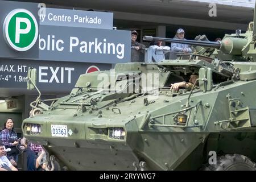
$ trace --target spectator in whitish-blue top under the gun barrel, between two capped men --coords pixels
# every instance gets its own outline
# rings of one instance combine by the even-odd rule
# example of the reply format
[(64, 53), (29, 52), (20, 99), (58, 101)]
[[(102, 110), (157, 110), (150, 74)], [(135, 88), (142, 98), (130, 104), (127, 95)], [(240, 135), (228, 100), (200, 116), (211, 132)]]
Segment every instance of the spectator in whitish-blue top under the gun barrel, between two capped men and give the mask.
[(154, 61), (159, 62), (165, 59), (164, 57), (164, 51), (170, 51), (170, 47), (168, 46), (162, 46), (162, 41), (160, 40), (153, 40), (150, 43), (150, 47), (149, 47), (152, 51), (152, 58), (154, 59)]

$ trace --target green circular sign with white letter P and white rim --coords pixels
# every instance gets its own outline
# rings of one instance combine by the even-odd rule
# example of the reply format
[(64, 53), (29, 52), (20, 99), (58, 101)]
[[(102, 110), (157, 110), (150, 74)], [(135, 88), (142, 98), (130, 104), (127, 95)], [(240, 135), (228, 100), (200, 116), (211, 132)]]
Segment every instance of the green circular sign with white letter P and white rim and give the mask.
[(16, 51), (27, 51), (38, 39), (38, 22), (28, 10), (15, 9), (5, 18), (3, 36)]

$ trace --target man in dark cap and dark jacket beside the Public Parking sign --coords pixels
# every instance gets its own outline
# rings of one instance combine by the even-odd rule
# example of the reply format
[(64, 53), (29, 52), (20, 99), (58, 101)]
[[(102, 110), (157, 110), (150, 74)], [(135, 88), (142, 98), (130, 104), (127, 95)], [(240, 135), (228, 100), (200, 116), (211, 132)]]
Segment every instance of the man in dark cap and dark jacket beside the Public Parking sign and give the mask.
[(136, 30), (131, 31), (131, 62), (140, 62), (140, 53), (143, 53), (143, 49), (146, 47), (144, 44), (136, 42), (137, 36)]

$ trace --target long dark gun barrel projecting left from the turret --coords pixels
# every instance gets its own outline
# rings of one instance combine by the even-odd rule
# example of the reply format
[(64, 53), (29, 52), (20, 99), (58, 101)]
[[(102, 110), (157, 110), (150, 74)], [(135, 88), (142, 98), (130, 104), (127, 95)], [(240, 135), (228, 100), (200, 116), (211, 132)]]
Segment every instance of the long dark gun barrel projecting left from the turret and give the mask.
[(221, 47), (220, 42), (205, 42), (205, 41), (197, 41), (197, 40), (181, 40), (181, 39), (170, 39), (170, 38), (158, 38), (152, 36), (143, 36), (143, 40), (152, 41), (152, 40), (161, 40), (165, 42), (172, 43), (182, 43), (193, 46), (203, 46), (203, 47), (213, 47), (219, 49)]

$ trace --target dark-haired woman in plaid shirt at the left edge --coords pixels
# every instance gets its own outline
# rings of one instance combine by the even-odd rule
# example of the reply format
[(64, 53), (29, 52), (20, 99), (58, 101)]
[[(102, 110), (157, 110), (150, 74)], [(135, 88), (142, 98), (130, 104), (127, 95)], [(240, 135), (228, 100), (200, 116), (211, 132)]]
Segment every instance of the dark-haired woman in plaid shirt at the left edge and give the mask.
[(11, 149), (7, 152), (7, 158), (9, 160), (14, 158), (15, 162), (18, 164), (19, 151), (16, 146), (19, 142), (17, 133), (14, 130), (14, 121), (11, 118), (6, 119), (3, 124), (3, 130), (0, 133), (0, 143), (4, 144), (5, 148)]

